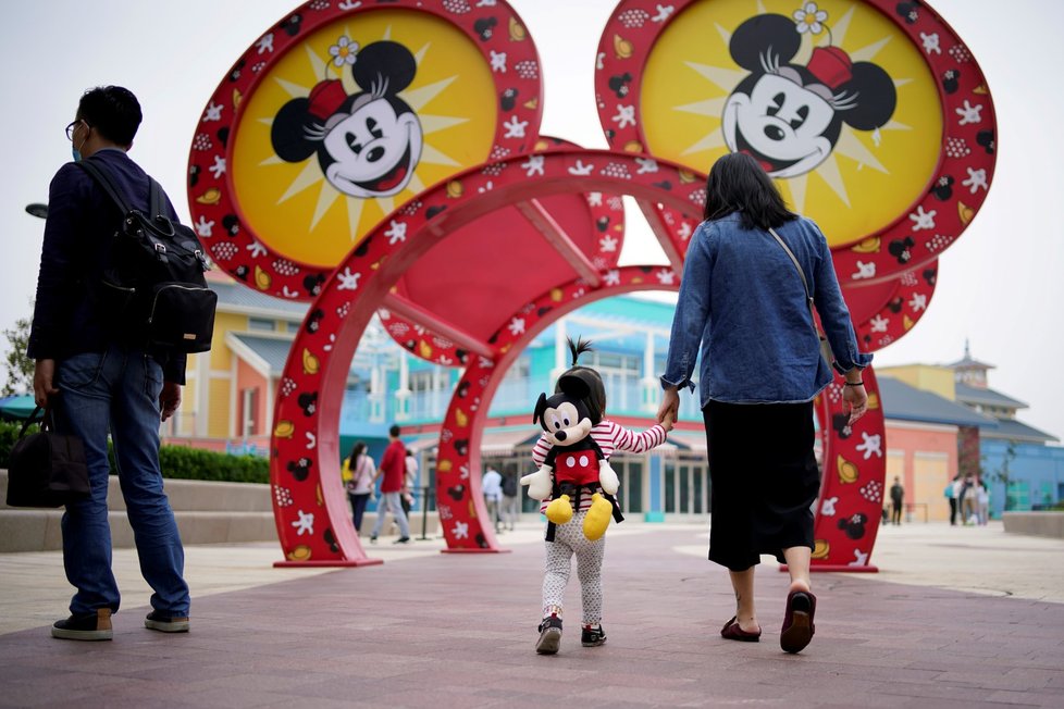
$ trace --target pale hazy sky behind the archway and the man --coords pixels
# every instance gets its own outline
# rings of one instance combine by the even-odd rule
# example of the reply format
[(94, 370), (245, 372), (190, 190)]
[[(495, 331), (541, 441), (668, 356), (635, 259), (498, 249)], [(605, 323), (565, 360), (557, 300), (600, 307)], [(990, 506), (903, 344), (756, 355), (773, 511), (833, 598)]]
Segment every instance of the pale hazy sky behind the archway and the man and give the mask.
[[(606, 140), (594, 104), (594, 60), (610, 0), (512, 0), (536, 42), (545, 90), (542, 132), (591, 148)], [(794, 1), (795, 8), (801, 4)], [(25, 213), (46, 201), (71, 159), (63, 127), (90, 86), (119, 84), (140, 99), (145, 122), (132, 156), (187, 217), (185, 172), (193, 132), (231, 64), (290, 0), (71, 0), (11, 3), (0, 46), (8, 107), (8, 169), (0, 179), (0, 327), (30, 313), (44, 222)], [(938, 287), (916, 327), (877, 364), (949, 363), (965, 339), (998, 366), (991, 386), (1026, 401), (1027, 423), (1064, 438), (1064, 245), (1053, 216), (1064, 195), (1064, 3), (936, 0), (931, 5), (970, 48), (987, 76), (998, 120), (989, 197), (940, 260)], [(1062, 161), (1064, 162), (1064, 161)], [(640, 217), (629, 214), (629, 223)], [(626, 262), (665, 262), (653, 237), (631, 226)], [(4, 343), (5, 345), (5, 343)]]

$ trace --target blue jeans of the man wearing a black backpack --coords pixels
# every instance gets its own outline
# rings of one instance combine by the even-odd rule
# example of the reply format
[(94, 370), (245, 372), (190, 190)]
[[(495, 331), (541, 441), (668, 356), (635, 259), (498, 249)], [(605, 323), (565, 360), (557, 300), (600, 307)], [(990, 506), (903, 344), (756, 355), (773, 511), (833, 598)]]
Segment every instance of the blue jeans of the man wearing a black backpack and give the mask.
[(111, 346), (102, 353), (61, 360), (55, 386), (55, 428), (85, 443), (92, 488), (87, 499), (67, 505), (63, 514), (63, 564), (67, 581), (77, 588), (71, 613), (119, 610), (107, 509), (110, 431), (140, 573), (154, 590), (151, 606), (173, 618), (187, 617), (185, 552), (159, 470), (162, 366), (141, 351)]

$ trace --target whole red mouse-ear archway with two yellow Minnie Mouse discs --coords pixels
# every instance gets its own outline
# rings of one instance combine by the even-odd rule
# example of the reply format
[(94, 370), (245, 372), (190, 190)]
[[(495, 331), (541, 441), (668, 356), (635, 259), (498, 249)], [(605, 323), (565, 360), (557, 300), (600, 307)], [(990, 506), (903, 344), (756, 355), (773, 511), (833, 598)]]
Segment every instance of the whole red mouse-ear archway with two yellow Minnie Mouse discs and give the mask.
[[(528, 153), (539, 139), (540, 65), (523, 24), (503, 0), (475, 5), (455, 0), (309, 0), (234, 64), (197, 128), (189, 198), (197, 231), (225, 271), (270, 295), (314, 300), (286, 364), (275, 410), (271, 480), (279, 536), (289, 563), (372, 562), (358, 545), (339, 477), (333, 474), (347, 364), (374, 310), (398, 304), (401, 311), (407, 306), (400, 281), (412, 273), (418, 259), (462, 226), (503, 208), (516, 208), (562, 252), (580, 275), (580, 282), (571, 284), (571, 295), (580, 300), (627, 287), (607, 278), (629, 272), (607, 269), (610, 264), (590, 261), (586, 253), (567, 246), (564, 226), (537, 200), (598, 190), (631, 196), (671, 266), (659, 271), (663, 281), (654, 287), (668, 287), (681, 272), (692, 215), (704, 201), (702, 175), (682, 164), (712, 163), (709, 153), (725, 142), (730, 150), (756, 150), (774, 176), (785, 179), (784, 188), (800, 211), (807, 211), (803, 204), (819, 204), (816, 209), (821, 211), (813, 209), (811, 215), (821, 226), (837, 213), (852, 215), (852, 223), (845, 223), (851, 216), (843, 216), (841, 225), (828, 224), (825, 232), (836, 239), (836, 266), (857, 314), (862, 347), (879, 349), (915, 324), (933, 290), (938, 254), (979, 210), (992, 178), (995, 126), (985, 79), (963, 42), (926, 3), (836, 3), (829, 10), (838, 16), (815, 3), (803, 3), (800, 12), (792, 5), (787, 0), (677, 0), (668, 5), (621, 0), (603, 34), (596, 74), (601, 120), (618, 152)], [(796, 43), (787, 41), (793, 45), (788, 57), (766, 63), (746, 55), (744, 48), (764, 34), (747, 32), (755, 15), (770, 16), (768, 24), (795, 35), (791, 39)], [(716, 34), (706, 35), (707, 26)], [(831, 32), (821, 36), (824, 26)], [(684, 33), (698, 27), (706, 41), (690, 41)], [(738, 50), (729, 49), (732, 34), (739, 32), (745, 33), (743, 41), (735, 42)], [(893, 35), (901, 41), (890, 41)], [(714, 49), (706, 50), (710, 45)], [(727, 59), (691, 57), (685, 54), (689, 50), (723, 51)], [(435, 60), (443, 54), (447, 62)], [(676, 61), (678, 55), (682, 61)], [(388, 80), (367, 80), (370, 75), (360, 76), (354, 69), (356, 59), (359, 69), (374, 66), (375, 76), (387, 74)], [(731, 60), (734, 64), (726, 65)], [(778, 74), (785, 64), (791, 77), (787, 80), (805, 72), (836, 91), (854, 79), (851, 70), (857, 62), (880, 65), (894, 84), (878, 94), (863, 89), (861, 102), (893, 96), (894, 90), (904, 100), (889, 123), (886, 116), (866, 116), (858, 121), (866, 125), (852, 126), (856, 134), (844, 129), (841, 139), (828, 130), (813, 136), (831, 141), (831, 150), (820, 150), (822, 167), (795, 172), (791, 163), (775, 162), (780, 156), (764, 147), (750, 140), (739, 145), (732, 135), (735, 122), (729, 123), (735, 116), (720, 113), (730, 96), (750, 90), (747, 79), (754, 74)], [(403, 66), (410, 66), (412, 74)], [(696, 85), (678, 71), (705, 80)], [(456, 82), (462, 88), (448, 94)], [(808, 90), (806, 84), (797, 82), (795, 90)], [(706, 90), (710, 85), (715, 88)], [(398, 97), (404, 88), (408, 90)], [(715, 94), (717, 89), (723, 92)], [(840, 91), (828, 99), (832, 111), (856, 108), (858, 96)], [(342, 158), (332, 148), (325, 150), (326, 134), (383, 94), (389, 101), (396, 99), (395, 115), (388, 119), (395, 126), (418, 121), (418, 140), (434, 132), (447, 138), (428, 140), (424, 153), (420, 142), (408, 142), (409, 151), (430, 156), (417, 165), (416, 160), (404, 162), (399, 151), (387, 175), (367, 182), (339, 171), (337, 177), (330, 161)], [(430, 103), (431, 109), (421, 111)], [(463, 113), (441, 111), (444, 107), (459, 107)], [(292, 120), (304, 113), (312, 119), (309, 123)], [(714, 116), (721, 120), (719, 130), (705, 121)], [(852, 123), (844, 119), (840, 120)], [(279, 129), (279, 124), (292, 127)], [(695, 141), (689, 140), (692, 125), (702, 132)], [(889, 146), (884, 142), (882, 150), (880, 128), (898, 138)], [(455, 139), (458, 134), (462, 137)], [(311, 140), (321, 145), (310, 153), (296, 145)], [(358, 153), (354, 142), (349, 147)], [(314, 164), (314, 151), (320, 165)], [(834, 152), (853, 164), (840, 164)], [(832, 154), (825, 159), (827, 153)], [(821, 189), (827, 202), (816, 202), (815, 192), (824, 185), (806, 177), (813, 176), (814, 167), (816, 177), (830, 187), (830, 192)], [(856, 174), (862, 167), (868, 170)], [(890, 176), (889, 184), (883, 174)], [(430, 184), (435, 186), (425, 188)], [(261, 190), (263, 185), (273, 191)], [(846, 210), (831, 209), (836, 202)], [(530, 283), (528, 289), (541, 287), (542, 283)], [(553, 289), (549, 297), (568, 287)], [(560, 303), (550, 307), (555, 314), (562, 310)], [(441, 434), (441, 462), (450, 465), (441, 480), (458, 475), (441, 487), (447, 495), (441, 502), (447, 506), (444, 531), (451, 550), (495, 547), (482, 530), (470, 536), (470, 522), (482, 510), (479, 496), (469, 497), (472, 485), (463, 485), (461, 475), (475, 468), (467, 453), (475, 456), (473, 443), (486, 412), (467, 410), (462, 393), (475, 397), (475, 385), (483, 387), (481, 396), (492, 393), (492, 376), (505, 370), (500, 364), (512, 357), (507, 348), (518, 346), (522, 328), (528, 332), (541, 315), (543, 322), (550, 318), (540, 308), (512, 315), (491, 337), (470, 334), (446, 316), (429, 319), (438, 327), (434, 341), (468, 350), (463, 383)], [(424, 312), (408, 308), (398, 314)], [(481, 331), (494, 327), (498, 314), (481, 323)], [(494, 374), (468, 378), (475, 370), (493, 368), (498, 368)], [(858, 431), (850, 432), (834, 425), (839, 406), (836, 384), (818, 407), (829, 474), (817, 515), (816, 559), (821, 568), (867, 569), (882, 495), (881, 413), (878, 419), (866, 416)], [(470, 437), (458, 437), (458, 430), (467, 427)], [(443, 507), (441, 512), (443, 517)], [(459, 522), (467, 524), (465, 534), (458, 533)]]

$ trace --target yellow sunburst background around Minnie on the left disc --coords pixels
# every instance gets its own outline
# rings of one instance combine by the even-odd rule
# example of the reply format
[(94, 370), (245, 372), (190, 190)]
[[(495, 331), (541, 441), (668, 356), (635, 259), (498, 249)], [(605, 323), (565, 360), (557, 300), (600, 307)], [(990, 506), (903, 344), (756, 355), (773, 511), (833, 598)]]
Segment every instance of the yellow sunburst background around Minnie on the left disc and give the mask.
[[(273, 152), (270, 128), (281, 107), (306, 97), (324, 78), (360, 89), (350, 66), (336, 67), (329, 48), (347, 37), (366, 47), (391, 39), (413, 54), (418, 72), (399, 92), (424, 132), (421, 160), (406, 189), (393, 197), (348, 197), (330, 185), (317, 154), (299, 163)], [(480, 49), (454, 25), (421, 12), (363, 12), (331, 23), (271, 66), (236, 126), (230, 166), (236, 203), (256, 236), (285, 257), (334, 266), (396, 206), (449, 175), (483, 162), (497, 120), (491, 69)]]

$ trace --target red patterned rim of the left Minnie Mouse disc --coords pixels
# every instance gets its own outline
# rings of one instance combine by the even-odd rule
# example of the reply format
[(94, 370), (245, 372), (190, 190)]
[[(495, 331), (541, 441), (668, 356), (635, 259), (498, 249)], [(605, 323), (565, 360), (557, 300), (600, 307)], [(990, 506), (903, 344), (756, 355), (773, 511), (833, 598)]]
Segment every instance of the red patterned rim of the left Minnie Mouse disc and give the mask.
[[(453, 24), (480, 48), (488, 66), (493, 57), (503, 58), (502, 70), (492, 71), (502, 108), (492, 148), (479, 158), (498, 160), (532, 149), (543, 104), (540, 60), (521, 18), (504, 0), (491, 4), (391, 0), (354, 7), (309, 0), (263, 33), (233, 64), (205, 107), (189, 151), (188, 203), (193, 225), (214, 263), (239, 283), (279, 298), (312, 300), (332, 271), (273, 250), (256, 237), (256, 224), (247, 223), (242, 215), (231, 172), (239, 169), (233, 164), (233, 146), (248, 97), (260, 87), (270, 69), (298, 49), (314, 30), (339, 18), (397, 9), (429, 13)], [(480, 23), (485, 22), (498, 27), (498, 32), (480, 29)], [(523, 100), (504, 100), (504, 95), (508, 97), (512, 91)]]

